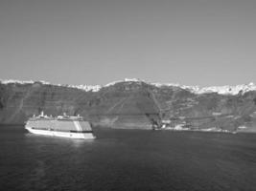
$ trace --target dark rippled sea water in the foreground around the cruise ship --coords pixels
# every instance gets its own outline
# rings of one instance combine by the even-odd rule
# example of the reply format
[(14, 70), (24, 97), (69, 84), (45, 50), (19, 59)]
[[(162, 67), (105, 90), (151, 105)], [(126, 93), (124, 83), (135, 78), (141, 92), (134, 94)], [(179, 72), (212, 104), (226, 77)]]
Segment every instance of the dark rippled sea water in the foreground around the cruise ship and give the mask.
[(1, 190), (256, 190), (256, 134), (0, 127)]

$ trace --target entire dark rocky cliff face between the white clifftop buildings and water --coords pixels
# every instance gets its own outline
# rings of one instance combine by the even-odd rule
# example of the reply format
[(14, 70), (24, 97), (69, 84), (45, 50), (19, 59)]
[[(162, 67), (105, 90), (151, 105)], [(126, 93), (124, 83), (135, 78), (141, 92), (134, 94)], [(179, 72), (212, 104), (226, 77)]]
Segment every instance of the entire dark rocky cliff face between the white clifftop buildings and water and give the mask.
[(230, 131), (256, 127), (256, 92), (238, 95), (194, 94), (176, 86), (125, 81), (99, 91), (43, 84), (0, 83), (0, 123), (23, 124), (44, 111), (58, 116), (80, 114), (94, 125), (151, 129), (162, 119), (191, 128)]

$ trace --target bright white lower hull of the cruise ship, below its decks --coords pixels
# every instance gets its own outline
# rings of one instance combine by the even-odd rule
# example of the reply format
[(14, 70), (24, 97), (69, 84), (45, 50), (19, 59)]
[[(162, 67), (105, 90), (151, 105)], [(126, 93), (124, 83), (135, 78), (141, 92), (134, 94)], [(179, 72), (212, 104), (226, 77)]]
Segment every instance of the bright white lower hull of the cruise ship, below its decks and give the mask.
[(73, 133), (73, 132), (60, 132), (60, 131), (52, 131), (52, 130), (41, 130), (34, 129), (32, 127), (25, 127), (30, 133), (36, 135), (44, 135), (44, 136), (54, 136), (61, 138), (82, 138), (82, 139), (90, 139), (95, 138), (92, 133)]

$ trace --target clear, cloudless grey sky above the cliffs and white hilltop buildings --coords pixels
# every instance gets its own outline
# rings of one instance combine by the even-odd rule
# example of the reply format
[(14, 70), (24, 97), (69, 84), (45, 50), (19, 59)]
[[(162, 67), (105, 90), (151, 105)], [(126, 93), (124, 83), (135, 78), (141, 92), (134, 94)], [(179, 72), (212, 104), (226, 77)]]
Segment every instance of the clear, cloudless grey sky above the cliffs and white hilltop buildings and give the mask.
[(256, 1), (0, 0), (0, 78), (256, 83)]

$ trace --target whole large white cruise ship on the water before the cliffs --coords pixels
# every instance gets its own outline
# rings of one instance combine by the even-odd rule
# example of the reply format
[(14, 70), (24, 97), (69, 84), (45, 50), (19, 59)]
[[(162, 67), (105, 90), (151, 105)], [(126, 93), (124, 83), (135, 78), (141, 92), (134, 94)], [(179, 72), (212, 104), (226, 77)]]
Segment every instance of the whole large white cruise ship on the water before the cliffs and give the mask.
[(65, 114), (58, 117), (31, 117), (26, 122), (25, 129), (37, 135), (56, 136), (62, 138), (95, 138), (91, 125), (82, 117), (69, 117)]

